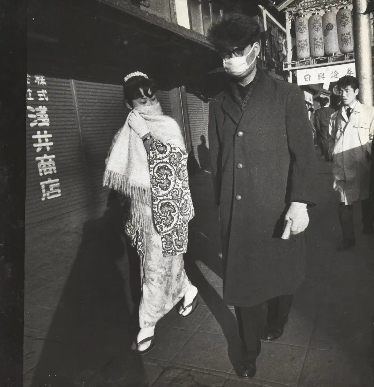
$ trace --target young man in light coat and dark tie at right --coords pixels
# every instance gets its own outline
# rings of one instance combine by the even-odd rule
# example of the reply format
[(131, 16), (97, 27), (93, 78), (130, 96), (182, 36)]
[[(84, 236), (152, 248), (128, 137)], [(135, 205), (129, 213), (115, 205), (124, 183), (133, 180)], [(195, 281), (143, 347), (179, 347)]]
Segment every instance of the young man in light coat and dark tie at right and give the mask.
[(329, 134), (333, 147), (334, 189), (340, 194), (339, 220), (343, 241), (338, 250), (356, 244), (353, 228), (353, 203), (361, 201), (364, 233), (373, 233), (369, 199), (371, 144), (374, 134), (374, 107), (357, 99), (358, 80), (346, 75), (338, 80), (343, 106), (330, 119)]

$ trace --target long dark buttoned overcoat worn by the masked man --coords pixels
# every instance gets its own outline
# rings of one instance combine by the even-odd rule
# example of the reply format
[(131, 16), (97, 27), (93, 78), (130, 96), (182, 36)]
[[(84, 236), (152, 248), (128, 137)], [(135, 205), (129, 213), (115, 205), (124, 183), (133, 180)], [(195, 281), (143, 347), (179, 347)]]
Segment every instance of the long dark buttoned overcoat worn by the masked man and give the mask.
[(209, 110), (220, 206), (224, 301), (253, 306), (294, 294), (305, 275), (305, 235), (281, 239), (292, 201), (314, 204), (315, 151), (304, 96), (262, 70), (244, 111), (229, 91)]

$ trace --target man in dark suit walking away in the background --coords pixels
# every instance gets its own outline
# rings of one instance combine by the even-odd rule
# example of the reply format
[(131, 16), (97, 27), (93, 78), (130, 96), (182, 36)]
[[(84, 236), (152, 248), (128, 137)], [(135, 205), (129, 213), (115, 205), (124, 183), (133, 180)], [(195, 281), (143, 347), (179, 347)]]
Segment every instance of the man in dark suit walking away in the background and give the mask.
[(314, 113), (315, 130), (322, 156), (324, 156), (326, 161), (331, 161), (331, 157), (329, 156), (329, 141), (331, 140), (331, 136), (329, 135), (329, 122), (335, 110), (329, 107), (330, 102), (326, 97), (321, 98), (321, 106), (321, 109), (317, 109)]

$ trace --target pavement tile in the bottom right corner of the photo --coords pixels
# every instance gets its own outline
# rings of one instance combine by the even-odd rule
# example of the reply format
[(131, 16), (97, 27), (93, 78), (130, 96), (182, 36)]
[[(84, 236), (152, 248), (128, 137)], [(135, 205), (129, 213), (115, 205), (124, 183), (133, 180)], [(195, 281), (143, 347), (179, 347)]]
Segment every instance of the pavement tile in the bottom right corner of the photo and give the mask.
[(310, 348), (299, 387), (372, 387), (373, 370), (365, 356)]

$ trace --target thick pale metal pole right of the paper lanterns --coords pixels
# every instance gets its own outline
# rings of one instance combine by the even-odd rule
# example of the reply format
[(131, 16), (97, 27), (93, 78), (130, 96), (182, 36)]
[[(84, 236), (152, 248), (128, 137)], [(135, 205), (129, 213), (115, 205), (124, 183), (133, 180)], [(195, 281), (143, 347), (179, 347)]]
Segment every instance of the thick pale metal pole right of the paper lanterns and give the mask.
[(371, 59), (370, 18), (364, 15), (367, 0), (353, 0), (356, 76), (360, 83), (359, 100), (373, 106), (373, 67)]

